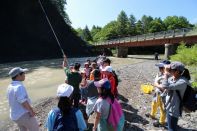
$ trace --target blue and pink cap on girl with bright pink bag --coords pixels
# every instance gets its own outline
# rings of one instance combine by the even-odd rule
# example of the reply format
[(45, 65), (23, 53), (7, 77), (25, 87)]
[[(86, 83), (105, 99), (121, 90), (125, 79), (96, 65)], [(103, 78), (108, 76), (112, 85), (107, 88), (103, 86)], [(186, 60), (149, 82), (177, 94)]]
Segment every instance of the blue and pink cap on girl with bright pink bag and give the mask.
[(105, 88), (105, 89), (110, 89), (111, 88), (110, 82), (107, 78), (101, 79), (100, 81), (95, 81), (94, 85), (97, 88)]

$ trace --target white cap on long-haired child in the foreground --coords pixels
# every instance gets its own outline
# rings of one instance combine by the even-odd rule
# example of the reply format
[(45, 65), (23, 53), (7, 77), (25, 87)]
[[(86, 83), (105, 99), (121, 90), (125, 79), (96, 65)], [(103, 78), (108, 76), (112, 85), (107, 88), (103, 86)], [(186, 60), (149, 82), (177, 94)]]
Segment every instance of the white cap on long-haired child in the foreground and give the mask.
[(70, 97), (73, 90), (74, 88), (71, 85), (68, 85), (66, 83), (61, 84), (57, 88), (57, 96), (58, 97)]

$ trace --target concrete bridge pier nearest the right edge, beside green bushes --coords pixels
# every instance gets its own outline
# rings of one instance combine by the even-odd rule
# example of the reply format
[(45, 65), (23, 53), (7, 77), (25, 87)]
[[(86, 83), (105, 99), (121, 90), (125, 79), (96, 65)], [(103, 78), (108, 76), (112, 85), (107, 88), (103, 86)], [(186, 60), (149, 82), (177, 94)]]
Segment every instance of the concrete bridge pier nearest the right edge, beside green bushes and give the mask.
[(168, 60), (171, 55), (175, 54), (177, 45), (174, 44), (165, 44), (165, 54), (164, 59)]

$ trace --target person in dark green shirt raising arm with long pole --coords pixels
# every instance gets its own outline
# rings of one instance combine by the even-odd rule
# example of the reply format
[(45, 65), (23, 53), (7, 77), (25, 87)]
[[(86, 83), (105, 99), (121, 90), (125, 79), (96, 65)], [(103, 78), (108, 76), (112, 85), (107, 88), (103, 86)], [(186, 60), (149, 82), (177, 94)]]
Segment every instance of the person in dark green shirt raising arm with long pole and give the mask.
[(80, 89), (79, 89), (79, 84), (82, 81), (82, 76), (79, 73), (80, 66), (81, 65), (79, 63), (75, 63), (74, 69), (72, 71), (70, 71), (70, 69), (68, 67), (67, 57), (64, 56), (63, 67), (64, 67), (64, 71), (66, 74), (66, 79), (67, 79), (66, 82), (69, 85), (72, 85), (74, 87), (72, 100), (74, 102), (75, 107), (79, 106), (79, 100), (81, 98), (81, 93), (80, 93)]

